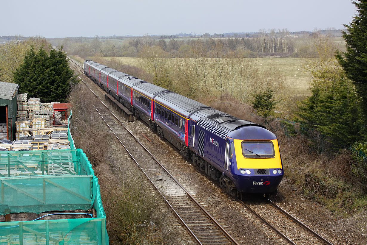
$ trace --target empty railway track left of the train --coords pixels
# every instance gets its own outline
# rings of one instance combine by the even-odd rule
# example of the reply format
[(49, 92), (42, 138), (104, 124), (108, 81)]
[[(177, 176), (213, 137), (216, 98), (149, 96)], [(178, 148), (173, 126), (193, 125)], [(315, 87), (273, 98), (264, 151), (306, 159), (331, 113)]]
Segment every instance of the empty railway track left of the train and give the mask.
[[(83, 81), (83, 80), (82, 80)], [(83, 81), (84, 82), (84, 81)], [(90, 88), (87, 83), (84, 84)], [(92, 89), (90, 89), (92, 91)], [(92, 93), (94, 93), (92, 91)], [(95, 93), (94, 93), (95, 94)], [(128, 155), (161, 193), (168, 206), (198, 244), (239, 245), (230, 234), (193, 198), (190, 193), (143, 146), (101, 98), (95, 109)], [(106, 111), (107, 109), (107, 111)], [(118, 123), (116, 123), (118, 122)], [(121, 126), (122, 129), (121, 130)]]

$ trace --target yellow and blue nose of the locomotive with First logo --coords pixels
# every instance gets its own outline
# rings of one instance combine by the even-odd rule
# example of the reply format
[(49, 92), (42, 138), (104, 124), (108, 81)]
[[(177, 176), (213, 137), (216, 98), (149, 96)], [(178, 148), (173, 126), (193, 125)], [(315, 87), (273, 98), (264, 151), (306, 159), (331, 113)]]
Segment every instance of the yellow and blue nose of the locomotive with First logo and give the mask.
[(283, 164), (275, 134), (257, 125), (239, 127), (227, 136), (228, 175), (237, 192), (275, 193)]

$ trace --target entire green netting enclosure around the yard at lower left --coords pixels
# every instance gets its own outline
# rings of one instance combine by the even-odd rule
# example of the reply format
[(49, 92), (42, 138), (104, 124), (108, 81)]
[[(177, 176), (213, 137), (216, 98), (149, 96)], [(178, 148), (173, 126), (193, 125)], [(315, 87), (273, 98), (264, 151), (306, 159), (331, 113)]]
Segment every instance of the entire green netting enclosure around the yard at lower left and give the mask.
[(84, 219), (0, 222), (0, 245), (109, 244), (98, 178), (83, 150), (1, 152), (0, 174), (1, 215), (89, 208), (96, 214)]

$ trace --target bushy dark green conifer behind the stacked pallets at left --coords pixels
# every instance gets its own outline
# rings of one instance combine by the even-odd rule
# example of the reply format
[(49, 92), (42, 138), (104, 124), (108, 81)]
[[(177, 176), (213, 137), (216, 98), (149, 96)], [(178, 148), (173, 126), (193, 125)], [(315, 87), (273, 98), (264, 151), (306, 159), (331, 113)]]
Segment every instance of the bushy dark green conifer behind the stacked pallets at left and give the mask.
[(48, 55), (43, 47), (36, 53), (31, 46), (14, 73), (14, 81), (19, 84), (20, 93), (28, 93), (28, 97), (39, 97), (45, 103), (65, 103), (70, 85), (76, 83), (77, 78), (68, 65), (62, 47), (51, 49)]

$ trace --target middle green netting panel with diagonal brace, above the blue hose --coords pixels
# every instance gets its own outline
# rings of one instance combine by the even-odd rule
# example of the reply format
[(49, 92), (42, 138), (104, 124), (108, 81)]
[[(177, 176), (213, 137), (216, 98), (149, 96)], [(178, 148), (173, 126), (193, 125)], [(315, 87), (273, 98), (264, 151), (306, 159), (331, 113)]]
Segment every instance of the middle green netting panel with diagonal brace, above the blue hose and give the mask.
[(0, 214), (92, 208), (92, 175), (1, 178)]

